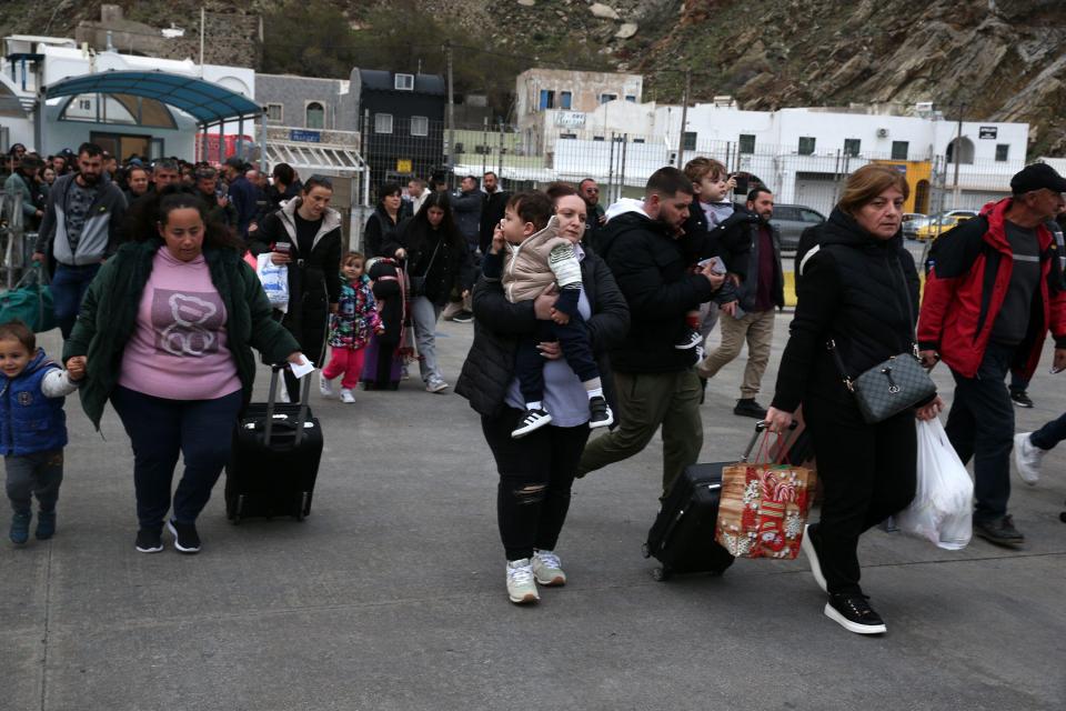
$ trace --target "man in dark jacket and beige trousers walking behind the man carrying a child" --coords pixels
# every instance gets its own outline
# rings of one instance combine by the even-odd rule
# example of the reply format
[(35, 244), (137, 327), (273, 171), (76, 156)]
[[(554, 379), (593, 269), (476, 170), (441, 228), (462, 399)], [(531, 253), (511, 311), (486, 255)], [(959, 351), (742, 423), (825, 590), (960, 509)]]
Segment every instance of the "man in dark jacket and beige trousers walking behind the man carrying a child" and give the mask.
[(785, 282), (781, 269), (781, 236), (770, 223), (774, 214), (773, 193), (766, 188), (755, 188), (747, 196), (745, 211), (757, 219), (744, 223), (751, 257), (747, 274), (740, 286), (740, 304), (723, 307), (726, 317), (722, 320), (722, 344), (696, 370), (702, 378), (714, 378), (741, 354), (747, 341), (747, 365), (733, 414), (762, 420), (766, 410), (755, 402), (755, 395), (770, 362), (774, 312), (785, 306)]

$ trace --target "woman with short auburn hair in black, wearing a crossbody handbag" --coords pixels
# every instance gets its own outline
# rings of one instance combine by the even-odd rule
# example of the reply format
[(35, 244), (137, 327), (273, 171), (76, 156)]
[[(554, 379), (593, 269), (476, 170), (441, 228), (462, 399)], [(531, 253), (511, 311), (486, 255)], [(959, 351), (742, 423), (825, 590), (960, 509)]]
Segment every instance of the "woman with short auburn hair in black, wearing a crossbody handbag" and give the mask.
[(852, 173), (801, 264), (796, 314), (766, 413), (770, 429), (783, 432), (803, 403), (824, 493), (803, 550), (828, 594), (826, 617), (859, 634), (882, 633), (885, 623), (858, 584), (858, 538), (911, 503), (914, 418), (934, 418), (943, 403), (935, 397), (917, 411), (866, 423), (826, 344), (834, 341), (852, 378), (914, 349), (918, 274), (901, 232), (907, 191), (903, 174), (887, 166)]

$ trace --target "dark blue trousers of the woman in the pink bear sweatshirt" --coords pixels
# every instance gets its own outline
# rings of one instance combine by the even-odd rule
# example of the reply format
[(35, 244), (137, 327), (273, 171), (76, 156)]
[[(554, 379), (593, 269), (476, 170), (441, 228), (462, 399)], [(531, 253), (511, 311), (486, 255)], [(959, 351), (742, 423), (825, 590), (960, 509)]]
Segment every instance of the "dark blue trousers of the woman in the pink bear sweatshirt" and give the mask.
[(121, 385), (111, 393), (133, 444), (133, 487), (142, 529), (160, 529), (170, 510), (170, 487), (184, 454), (185, 471), (174, 492), (173, 518), (194, 523), (230, 458), (240, 390), (213, 400), (167, 400)]

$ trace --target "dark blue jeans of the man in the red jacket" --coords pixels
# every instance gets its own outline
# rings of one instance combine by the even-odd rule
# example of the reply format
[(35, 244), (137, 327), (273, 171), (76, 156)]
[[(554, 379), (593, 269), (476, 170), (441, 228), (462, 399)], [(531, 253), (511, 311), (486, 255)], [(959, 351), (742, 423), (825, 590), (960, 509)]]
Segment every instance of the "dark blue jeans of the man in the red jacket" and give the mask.
[(974, 460), (975, 520), (988, 521), (1007, 512), (1014, 405), (1005, 379), (1015, 350), (989, 342), (975, 378), (952, 371), (955, 401), (944, 430), (963, 463)]

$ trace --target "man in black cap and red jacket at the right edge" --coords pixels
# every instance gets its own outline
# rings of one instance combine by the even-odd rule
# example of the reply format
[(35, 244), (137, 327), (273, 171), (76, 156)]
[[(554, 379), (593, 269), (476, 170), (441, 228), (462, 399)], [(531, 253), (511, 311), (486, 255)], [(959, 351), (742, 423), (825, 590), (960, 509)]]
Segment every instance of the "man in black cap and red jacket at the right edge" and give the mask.
[(1066, 179), (1034, 163), (1010, 190), (934, 242), (917, 336), (925, 365), (943, 360), (955, 377), (945, 429), (963, 462), (974, 460), (974, 533), (1016, 547), (1025, 537), (1007, 514), (1014, 407), (1004, 379), (1032, 377), (1048, 330), (1053, 372), (1066, 369), (1066, 291), (1044, 224), (1066, 203)]

